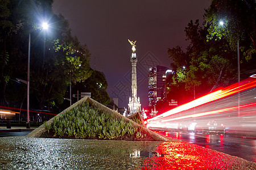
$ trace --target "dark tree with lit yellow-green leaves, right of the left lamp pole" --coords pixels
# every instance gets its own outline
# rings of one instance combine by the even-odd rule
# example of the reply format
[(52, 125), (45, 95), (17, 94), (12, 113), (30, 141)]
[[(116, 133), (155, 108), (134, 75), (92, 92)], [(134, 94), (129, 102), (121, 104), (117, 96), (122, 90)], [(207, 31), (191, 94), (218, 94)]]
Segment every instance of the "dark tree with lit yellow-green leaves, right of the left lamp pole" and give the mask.
[[(40, 54), (34, 55), (33, 86), (39, 108), (46, 101), (56, 100), (63, 103), (63, 96), (70, 83), (81, 82), (90, 75), (90, 53), (86, 45), (81, 45), (77, 37), (71, 36), (71, 29), (63, 16), (55, 16), (52, 21), (56, 31), (54, 37), (48, 37), (47, 53), (42, 56), (41, 50), (35, 50)], [(40, 43), (38, 43), (40, 44)], [(39, 45), (42, 48), (43, 45)], [(42, 59), (45, 58), (45, 59)], [(56, 102), (55, 102), (56, 103)]]

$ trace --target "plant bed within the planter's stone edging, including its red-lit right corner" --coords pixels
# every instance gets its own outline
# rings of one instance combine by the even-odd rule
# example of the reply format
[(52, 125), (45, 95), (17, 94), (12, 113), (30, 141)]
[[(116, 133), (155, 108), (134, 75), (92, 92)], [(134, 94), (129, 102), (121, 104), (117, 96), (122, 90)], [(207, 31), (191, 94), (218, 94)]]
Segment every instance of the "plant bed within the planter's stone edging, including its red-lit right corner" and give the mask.
[(104, 113), (88, 101), (55, 117), (52, 123), (45, 122), (44, 126), (47, 131), (40, 137), (154, 141), (143, 128), (134, 127), (131, 121), (122, 117)]

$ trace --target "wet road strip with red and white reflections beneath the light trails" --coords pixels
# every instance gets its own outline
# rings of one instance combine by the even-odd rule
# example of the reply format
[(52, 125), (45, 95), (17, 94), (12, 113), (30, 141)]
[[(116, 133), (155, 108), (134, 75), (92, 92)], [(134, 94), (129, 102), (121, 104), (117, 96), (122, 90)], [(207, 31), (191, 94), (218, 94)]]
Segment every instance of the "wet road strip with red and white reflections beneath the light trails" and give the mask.
[(211, 150), (224, 152), (225, 154), (238, 156), (240, 158), (256, 162), (256, 139), (242, 136), (217, 135), (217, 134), (195, 134), (184, 132), (160, 132), (171, 138), (183, 142), (194, 143)]

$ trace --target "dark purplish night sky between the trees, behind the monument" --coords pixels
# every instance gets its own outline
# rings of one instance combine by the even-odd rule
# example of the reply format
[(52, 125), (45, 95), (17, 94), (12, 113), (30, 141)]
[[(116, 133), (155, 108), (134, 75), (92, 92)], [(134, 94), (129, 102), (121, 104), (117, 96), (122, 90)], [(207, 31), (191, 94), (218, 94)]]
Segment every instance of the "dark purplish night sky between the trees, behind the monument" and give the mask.
[[(137, 40), (137, 86), (142, 108), (148, 105), (147, 75), (150, 66), (170, 67), (167, 49), (187, 48), (184, 29), (190, 20), (203, 23), (210, 0), (85, 1), (55, 0), (53, 11), (69, 20), (72, 35), (88, 45), (90, 66), (102, 71), (110, 97), (128, 108), (131, 96), (131, 45)], [(96, 64), (94, 66), (94, 64)]]

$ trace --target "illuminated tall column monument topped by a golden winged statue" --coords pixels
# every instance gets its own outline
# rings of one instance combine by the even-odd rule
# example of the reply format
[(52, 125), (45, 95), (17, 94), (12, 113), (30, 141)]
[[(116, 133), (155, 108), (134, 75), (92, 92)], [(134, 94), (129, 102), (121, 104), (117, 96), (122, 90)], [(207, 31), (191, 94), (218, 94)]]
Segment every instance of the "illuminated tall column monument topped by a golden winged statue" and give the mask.
[(137, 113), (141, 111), (141, 103), (139, 102), (139, 97), (137, 98), (137, 72), (136, 72), (136, 64), (137, 64), (137, 56), (135, 53), (135, 42), (136, 41), (128, 41), (131, 44), (131, 97), (129, 97), (129, 114)]

